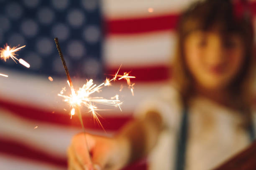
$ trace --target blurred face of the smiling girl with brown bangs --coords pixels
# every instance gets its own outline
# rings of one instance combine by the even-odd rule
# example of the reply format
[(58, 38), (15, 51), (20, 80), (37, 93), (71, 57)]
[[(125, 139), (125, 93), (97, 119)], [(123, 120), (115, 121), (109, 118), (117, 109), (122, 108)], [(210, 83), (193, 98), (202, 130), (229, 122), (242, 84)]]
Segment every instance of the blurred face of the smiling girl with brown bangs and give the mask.
[(243, 42), (236, 34), (192, 32), (184, 41), (184, 52), (196, 84), (209, 90), (228, 87), (243, 64)]

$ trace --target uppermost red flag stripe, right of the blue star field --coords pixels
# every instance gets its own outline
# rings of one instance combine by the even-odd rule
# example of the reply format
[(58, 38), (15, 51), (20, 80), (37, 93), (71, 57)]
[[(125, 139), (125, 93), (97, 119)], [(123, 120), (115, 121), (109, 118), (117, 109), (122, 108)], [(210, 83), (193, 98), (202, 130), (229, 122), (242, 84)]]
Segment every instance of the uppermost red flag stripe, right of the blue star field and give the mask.
[(133, 34), (160, 30), (173, 30), (176, 27), (179, 15), (170, 14), (164, 16), (107, 20), (107, 34)]

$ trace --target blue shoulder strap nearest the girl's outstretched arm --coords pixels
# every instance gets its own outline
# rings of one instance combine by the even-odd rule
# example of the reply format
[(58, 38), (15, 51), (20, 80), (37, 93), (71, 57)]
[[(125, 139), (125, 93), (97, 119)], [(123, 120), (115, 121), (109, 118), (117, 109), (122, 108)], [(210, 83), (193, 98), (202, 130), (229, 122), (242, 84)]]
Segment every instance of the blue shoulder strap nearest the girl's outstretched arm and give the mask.
[(186, 155), (186, 143), (188, 136), (188, 110), (187, 107), (184, 108), (182, 112), (182, 120), (179, 129), (179, 136), (177, 140), (177, 157), (175, 170), (184, 170), (185, 166), (185, 155)]

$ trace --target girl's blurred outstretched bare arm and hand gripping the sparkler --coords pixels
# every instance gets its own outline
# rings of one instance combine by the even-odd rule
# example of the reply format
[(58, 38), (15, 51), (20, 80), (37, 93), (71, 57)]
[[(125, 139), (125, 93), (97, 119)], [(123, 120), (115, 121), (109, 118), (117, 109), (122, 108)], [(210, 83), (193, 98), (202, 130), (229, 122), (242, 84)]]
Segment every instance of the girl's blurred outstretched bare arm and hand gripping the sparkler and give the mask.
[[(143, 118), (125, 125), (114, 138), (87, 134), (92, 162), (100, 169), (117, 170), (142, 158), (156, 144), (162, 122), (159, 114), (148, 112)], [(74, 136), (68, 150), (69, 170), (87, 167), (90, 158), (85, 156), (85, 152), (84, 134)]]

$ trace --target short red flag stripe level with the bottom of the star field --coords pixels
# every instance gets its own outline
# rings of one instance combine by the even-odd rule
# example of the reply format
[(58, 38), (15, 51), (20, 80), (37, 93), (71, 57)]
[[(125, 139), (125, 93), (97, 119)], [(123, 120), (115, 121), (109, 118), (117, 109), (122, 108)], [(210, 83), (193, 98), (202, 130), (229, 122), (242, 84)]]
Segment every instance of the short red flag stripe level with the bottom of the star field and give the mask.
[[(106, 68), (105, 72), (110, 75), (114, 75), (117, 71), (116, 67)], [(131, 71), (130, 75), (135, 76), (136, 78), (131, 79), (131, 82), (156, 82), (168, 80), (172, 77), (171, 68), (166, 65), (163, 66), (147, 66), (147, 67), (134, 67), (131, 69), (121, 67), (120, 75), (124, 72)]]

